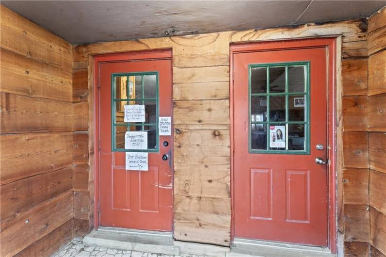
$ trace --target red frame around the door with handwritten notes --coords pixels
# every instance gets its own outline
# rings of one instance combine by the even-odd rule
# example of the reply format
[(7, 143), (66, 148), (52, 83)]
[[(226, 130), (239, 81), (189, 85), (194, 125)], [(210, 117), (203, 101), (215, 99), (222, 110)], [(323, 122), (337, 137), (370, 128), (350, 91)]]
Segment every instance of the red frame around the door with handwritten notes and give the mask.
[[(90, 89), (90, 92), (93, 92), (92, 96), (89, 99), (90, 108), (93, 110), (90, 111), (90, 121), (89, 121), (89, 140), (93, 139), (94, 142), (89, 143), (89, 148), (94, 149), (93, 154), (94, 157), (90, 156), (90, 169), (94, 174), (94, 229), (97, 229), (100, 225), (100, 215), (99, 215), (99, 187), (100, 187), (100, 134), (99, 134), (99, 64), (101, 63), (117, 63), (117, 62), (140, 62), (140, 61), (148, 61), (148, 60), (171, 60), (171, 97), (173, 97), (173, 52), (171, 48), (165, 49), (150, 49), (150, 50), (142, 50), (142, 51), (132, 51), (132, 52), (122, 52), (122, 53), (107, 53), (107, 54), (99, 54), (93, 55), (89, 57), (89, 63), (92, 64), (91, 67), (91, 83), (89, 85), (93, 86), (93, 89)], [(93, 102), (93, 103), (91, 103)], [(171, 120), (173, 121), (173, 99), (171, 100), (170, 106), (171, 112)], [(109, 121), (109, 123), (111, 123)], [(173, 130), (173, 122), (171, 124)], [(92, 130), (92, 129), (93, 130)], [(92, 135), (94, 133), (94, 135)], [(173, 137), (171, 139), (171, 163), (174, 163), (174, 147), (173, 147)], [(90, 152), (90, 155), (92, 153)], [(93, 165), (93, 166), (92, 166)], [(172, 172), (172, 187), (174, 188), (174, 165), (171, 165)], [(172, 205), (174, 206), (174, 190), (172, 190)], [(90, 201), (91, 202), (91, 201)], [(90, 207), (93, 204), (90, 203)], [(174, 212), (172, 211), (172, 233), (174, 232)]]

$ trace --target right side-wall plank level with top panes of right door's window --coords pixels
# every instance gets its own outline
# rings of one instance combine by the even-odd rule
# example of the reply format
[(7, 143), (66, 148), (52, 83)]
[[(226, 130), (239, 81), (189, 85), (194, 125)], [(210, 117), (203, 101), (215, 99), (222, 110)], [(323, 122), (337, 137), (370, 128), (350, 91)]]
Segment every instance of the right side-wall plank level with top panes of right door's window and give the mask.
[(386, 93), (386, 51), (369, 57), (369, 95)]

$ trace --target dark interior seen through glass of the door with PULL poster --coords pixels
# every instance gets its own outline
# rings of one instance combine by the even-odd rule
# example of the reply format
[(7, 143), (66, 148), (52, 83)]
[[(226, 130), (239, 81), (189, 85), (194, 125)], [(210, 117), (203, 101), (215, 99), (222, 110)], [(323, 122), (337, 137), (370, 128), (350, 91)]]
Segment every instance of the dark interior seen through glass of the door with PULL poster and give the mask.
[(306, 66), (259, 66), (250, 72), (251, 149), (305, 151)]

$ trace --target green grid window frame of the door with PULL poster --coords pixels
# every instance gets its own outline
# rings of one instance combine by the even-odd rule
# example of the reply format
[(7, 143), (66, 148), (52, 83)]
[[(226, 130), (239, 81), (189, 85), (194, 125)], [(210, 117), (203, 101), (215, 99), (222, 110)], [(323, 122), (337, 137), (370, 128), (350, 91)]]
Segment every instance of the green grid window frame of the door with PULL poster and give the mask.
[[(289, 67), (291, 66), (304, 66), (305, 70), (305, 91), (304, 92), (289, 92), (288, 88), (288, 74)], [(252, 68), (266, 68), (266, 93), (252, 93)], [(285, 92), (284, 93), (272, 93), (270, 92), (270, 68), (271, 67), (285, 67)], [(248, 136), (249, 136), (249, 153), (266, 153), (266, 154), (298, 154), (298, 155), (309, 155), (310, 147), (310, 62), (288, 62), (288, 63), (268, 63), (268, 64), (249, 64), (248, 67), (248, 77), (249, 77), (249, 85), (248, 85), (248, 113), (249, 113), (249, 127), (248, 127)], [(289, 96), (299, 96), (304, 95), (305, 97), (305, 115), (304, 121), (289, 121)], [(267, 102), (267, 121), (252, 121), (251, 120), (251, 103), (252, 96), (265, 96)], [(286, 119), (285, 121), (270, 121), (270, 96), (285, 96), (286, 99)], [(267, 146), (266, 149), (252, 149), (252, 125), (253, 124), (261, 124), (265, 126), (267, 131)], [(288, 150), (288, 125), (289, 124), (301, 124), (305, 126), (305, 147), (304, 150)], [(272, 150), (270, 149), (270, 133), (269, 128), (270, 125), (285, 125), (286, 126), (286, 149), (283, 150)]]

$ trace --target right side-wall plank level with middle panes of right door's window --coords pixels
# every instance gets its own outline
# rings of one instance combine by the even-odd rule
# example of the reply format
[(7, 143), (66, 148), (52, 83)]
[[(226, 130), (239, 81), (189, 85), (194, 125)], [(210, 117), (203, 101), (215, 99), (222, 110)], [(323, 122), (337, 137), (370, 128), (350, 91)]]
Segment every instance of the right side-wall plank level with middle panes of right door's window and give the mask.
[(369, 96), (369, 130), (386, 132), (386, 93)]

